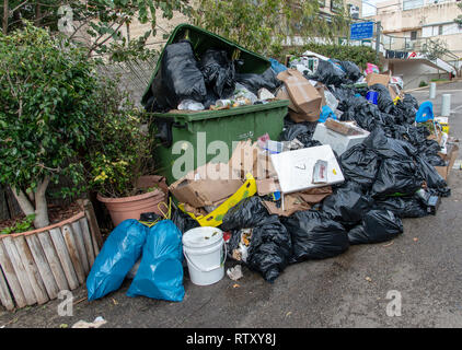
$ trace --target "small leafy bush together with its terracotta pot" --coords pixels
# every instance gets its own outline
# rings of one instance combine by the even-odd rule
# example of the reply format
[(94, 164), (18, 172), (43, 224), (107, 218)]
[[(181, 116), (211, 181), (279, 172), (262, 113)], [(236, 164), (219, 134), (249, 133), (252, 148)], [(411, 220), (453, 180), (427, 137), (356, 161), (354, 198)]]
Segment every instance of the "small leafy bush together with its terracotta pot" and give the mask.
[(153, 139), (145, 115), (120, 91), (118, 81), (106, 79), (94, 106), (100, 117), (93, 124), (85, 168), (89, 184), (97, 192), (116, 226), (126, 219), (140, 219), (143, 212), (166, 212), (168, 186), (154, 174)]

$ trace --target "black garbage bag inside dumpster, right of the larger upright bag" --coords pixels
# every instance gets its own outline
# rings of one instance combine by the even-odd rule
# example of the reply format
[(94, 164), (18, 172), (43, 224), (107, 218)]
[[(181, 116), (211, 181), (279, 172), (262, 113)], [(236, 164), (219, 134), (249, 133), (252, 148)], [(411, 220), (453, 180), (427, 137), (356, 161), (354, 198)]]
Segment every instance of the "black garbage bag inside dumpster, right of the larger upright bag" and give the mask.
[(224, 50), (210, 48), (199, 60), (206, 86), (211, 89), (219, 98), (229, 98), (235, 90), (235, 69)]

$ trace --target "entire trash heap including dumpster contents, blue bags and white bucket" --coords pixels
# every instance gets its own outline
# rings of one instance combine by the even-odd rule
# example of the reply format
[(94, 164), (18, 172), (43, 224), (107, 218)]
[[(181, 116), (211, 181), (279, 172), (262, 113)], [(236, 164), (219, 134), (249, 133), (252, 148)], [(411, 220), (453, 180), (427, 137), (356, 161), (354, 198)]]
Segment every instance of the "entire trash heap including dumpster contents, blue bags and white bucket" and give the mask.
[[(219, 281), (227, 258), (274, 282), (290, 264), (393, 240), (402, 219), (437, 213), (459, 147), (431, 103), (419, 105), (401, 78), (370, 63), (361, 72), (310, 51), (269, 61), (262, 74), (241, 73), (243, 59), (221, 48), (197, 55), (188, 39), (166, 45), (148, 112), (288, 100), (284, 129), (278, 139), (252, 133), (256, 141), (238, 142), (227, 163), (203, 163), (171, 183), (176, 205), (164, 220), (120, 223), (86, 280), (89, 300), (131, 276), (129, 296), (182, 301), (183, 257), (195, 284)], [(241, 265), (227, 275), (241, 279)]]

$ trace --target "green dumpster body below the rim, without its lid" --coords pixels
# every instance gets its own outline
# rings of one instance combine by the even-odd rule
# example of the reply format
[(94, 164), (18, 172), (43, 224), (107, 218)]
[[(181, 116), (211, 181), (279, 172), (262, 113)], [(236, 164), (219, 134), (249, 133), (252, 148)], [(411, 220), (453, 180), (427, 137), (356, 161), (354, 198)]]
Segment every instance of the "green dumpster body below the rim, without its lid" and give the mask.
[[(256, 141), (266, 132), (272, 140), (278, 140), (288, 105), (289, 101), (284, 100), (223, 110), (153, 114), (160, 125), (168, 128), (164, 132), (169, 135), (164, 142), (159, 142), (154, 149), (158, 173), (165, 176), (169, 184), (174, 183), (178, 179), (174, 176), (178, 168), (182, 174), (186, 174), (218, 155), (219, 151), (212, 148), (219, 144), (211, 144), (213, 141), (226, 143), (228, 159), (223, 161), (227, 162), (238, 141), (247, 139)], [(151, 130), (152, 133), (161, 131), (155, 126), (152, 124), (155, 128), (155, 131)], [(192, 154), (187, 152), (194, 152), (194, 162), (184, 161)], [(176, 165), (175, 161), (178, 161)]]

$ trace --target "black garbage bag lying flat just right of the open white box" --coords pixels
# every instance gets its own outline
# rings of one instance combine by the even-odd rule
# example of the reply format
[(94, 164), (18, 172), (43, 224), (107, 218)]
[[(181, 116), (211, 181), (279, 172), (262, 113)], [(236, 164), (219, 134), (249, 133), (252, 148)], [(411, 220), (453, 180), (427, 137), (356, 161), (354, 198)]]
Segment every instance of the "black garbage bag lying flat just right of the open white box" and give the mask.
[(381, 128), (373, 129), (362, 144), (374, 150), (381, 158), (409, 160), (417, 154), (417, 150), (409, 142), (389, 138)]

